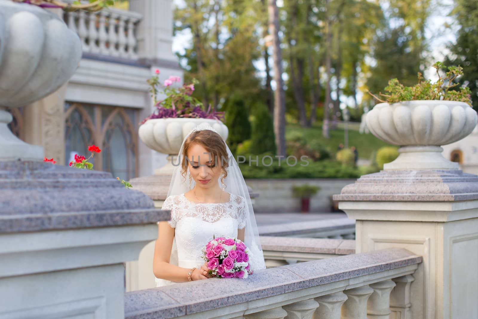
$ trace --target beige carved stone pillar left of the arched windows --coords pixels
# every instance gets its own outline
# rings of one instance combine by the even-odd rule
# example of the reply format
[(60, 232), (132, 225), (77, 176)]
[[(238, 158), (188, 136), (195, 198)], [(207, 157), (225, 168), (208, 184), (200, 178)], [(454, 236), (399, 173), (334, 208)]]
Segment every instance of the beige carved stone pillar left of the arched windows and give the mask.
[(25, 142), (43, 146), (45, 157), (60, 165), (65, 165), (66, 86), (26, 106), (23, 115)]

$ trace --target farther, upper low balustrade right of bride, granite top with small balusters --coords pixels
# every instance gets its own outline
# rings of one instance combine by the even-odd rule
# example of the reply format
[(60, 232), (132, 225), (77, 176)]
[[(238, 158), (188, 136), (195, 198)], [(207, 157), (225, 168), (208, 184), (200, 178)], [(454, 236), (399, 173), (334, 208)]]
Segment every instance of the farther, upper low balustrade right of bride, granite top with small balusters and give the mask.
[(355, 220), (348, 218), (307, 220), (258, 226), (262, 236), (355, 239)]

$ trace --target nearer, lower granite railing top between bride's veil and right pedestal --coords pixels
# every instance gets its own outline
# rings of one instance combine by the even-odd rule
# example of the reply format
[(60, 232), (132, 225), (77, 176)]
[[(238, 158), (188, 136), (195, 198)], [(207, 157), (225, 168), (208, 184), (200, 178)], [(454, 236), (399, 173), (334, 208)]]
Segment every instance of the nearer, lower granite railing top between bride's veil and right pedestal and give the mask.
[(261, 236), (262, 250), (292, 253), (327, 253), (349, 255), (355, 253), (354, 240)]

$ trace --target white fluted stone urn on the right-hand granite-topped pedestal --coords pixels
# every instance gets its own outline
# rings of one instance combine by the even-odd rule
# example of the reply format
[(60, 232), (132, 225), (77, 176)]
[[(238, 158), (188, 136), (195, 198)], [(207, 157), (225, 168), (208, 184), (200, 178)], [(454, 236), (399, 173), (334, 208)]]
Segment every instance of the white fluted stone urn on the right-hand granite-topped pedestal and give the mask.
[(384, 170), (459, 169), (443, 157), (440, 146), (470, 134), (478, 116), (464, 102), (416, 100), (377, 104), (366, 120), (373, 135), (400, 146), (400, 155)]

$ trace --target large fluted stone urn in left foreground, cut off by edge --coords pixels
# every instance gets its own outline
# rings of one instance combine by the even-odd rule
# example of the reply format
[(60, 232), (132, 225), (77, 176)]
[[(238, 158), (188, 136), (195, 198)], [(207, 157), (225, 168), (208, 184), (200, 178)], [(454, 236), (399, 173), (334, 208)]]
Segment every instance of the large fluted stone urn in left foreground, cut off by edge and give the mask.
[(0, 160), (42, 160), (43, 148), (22, 142), (7, 127), (8, 108), (53, 93), (81, 59), (78, 35), (54, 13), (0, 0)]

